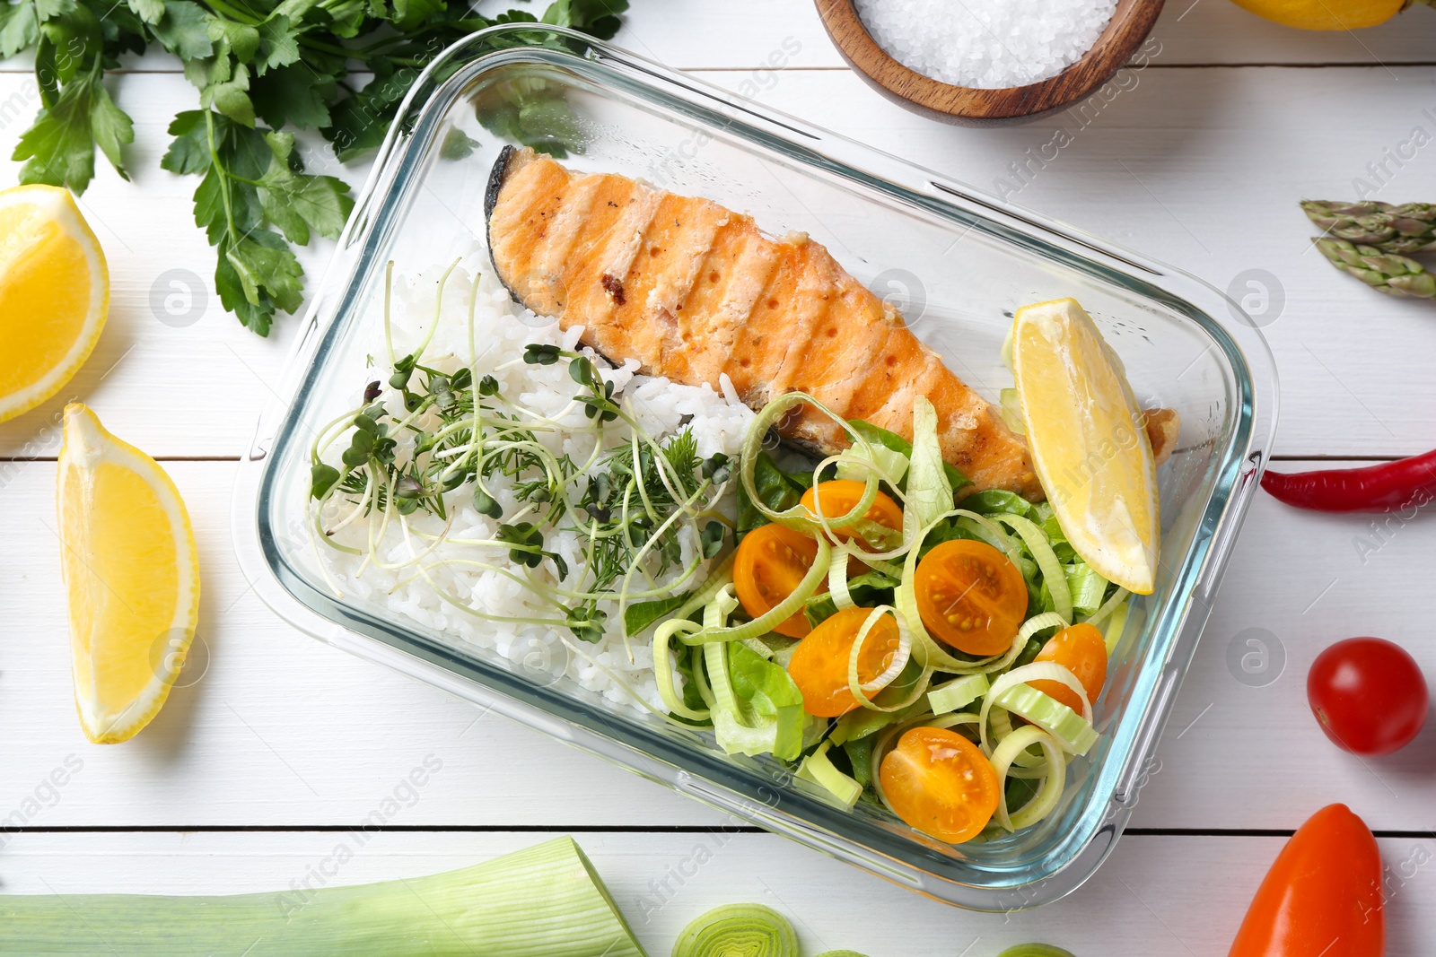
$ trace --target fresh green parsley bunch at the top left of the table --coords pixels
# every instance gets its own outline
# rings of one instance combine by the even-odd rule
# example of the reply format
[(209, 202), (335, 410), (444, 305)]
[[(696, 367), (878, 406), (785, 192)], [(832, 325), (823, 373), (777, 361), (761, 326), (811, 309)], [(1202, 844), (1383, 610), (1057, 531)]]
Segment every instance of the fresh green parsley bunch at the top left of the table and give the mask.
[[(628, 0), (556, 0), (541, 23), (600, 39)], [(317, 129), (342, 161), (383, 141), (399, 102), (444, 47), (495, 23), (465, 0), (0, 0), (0, 57), (34, 49), (42, 109), (22, 136), (22, 182), (83, 192), (95, 149), (126, 178), (134, 125), (105, 70), (158, 43), (184, 63), (200, 109), (169, 125), (161, 166), (201, 176), (194, 218), (215, 247), (220, 301), (260, 336), (293, 313), (303, 270), (290, 244), (333, 238), (353, 199), (304, 172), (292, 129)], [(362, 85), (356, 77), (369, 75)]]

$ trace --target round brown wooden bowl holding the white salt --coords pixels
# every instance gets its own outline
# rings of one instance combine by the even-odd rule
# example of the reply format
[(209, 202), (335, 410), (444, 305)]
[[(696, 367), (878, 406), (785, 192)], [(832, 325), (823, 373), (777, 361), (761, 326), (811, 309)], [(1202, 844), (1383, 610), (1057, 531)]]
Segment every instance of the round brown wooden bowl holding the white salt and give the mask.
[(1152, 32), (1162, 0), (1117, 0), (1107, 29), (1080, 60), (1050, 79), (1007, 89), (954, 86), (903, 66), (867, 33), (853, 0), (817, 0), (817, 11), (843, 59), (879, 93), (933, 119), (987, 126), (1061, 109), (1106, 83)]

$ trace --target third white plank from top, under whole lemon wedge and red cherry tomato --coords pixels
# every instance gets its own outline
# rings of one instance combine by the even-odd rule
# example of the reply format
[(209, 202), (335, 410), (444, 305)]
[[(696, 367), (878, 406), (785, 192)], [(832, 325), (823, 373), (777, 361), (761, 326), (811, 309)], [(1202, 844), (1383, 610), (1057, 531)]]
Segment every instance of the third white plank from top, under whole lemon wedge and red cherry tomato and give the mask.
[[(0, 811), (19, 806), (76, 755), (83, 772), (34, 824), (352, 824), (434, 753), (444, 773), (402, 824), (725, 819), (536, 732), (493, 716), (474, 723), (472, 707), (292, 630), (247, 591), (233, 562), (233, 469), (225, 462), (168, 465), (197, 525), (205, 587), (200, 634), (210, 661), (149, 729), (115, 748), (85, 743), (70, 702), (50, 531), (53, 465), (0, 471), (0, 501), (11, 517), (0, 581), (14, 583), (6, 607), (23, 623), (17, 640), (0, 644)], [(1357, 537), (1370, 539), (1361, 554)], [(1413, 598), (1426, 593), (1436, 527), (1394, 522), (1381, 537), (1387, 544), (1364, 518), (1320, 517), (1258, 498), (1134, 826), (1284, 828), (1310, 801), (1346, 801), (1376, 828), (1436, 831), (1427, 768), (1436, 723), (1397, 755), (1358, 760), (1323, 737), (1304, 699), (1315, 654), (1354, 634), (1400, 641), (1436, 676), (1436, 638)], [(1274, 653), (1279, 643), (1285, 659), (1279, 676), (1261, 687), (1228, 664), (1232, 646), (1245, 653), (1252, 636)], [(553, 781), (576, 783), (554, 793)]]

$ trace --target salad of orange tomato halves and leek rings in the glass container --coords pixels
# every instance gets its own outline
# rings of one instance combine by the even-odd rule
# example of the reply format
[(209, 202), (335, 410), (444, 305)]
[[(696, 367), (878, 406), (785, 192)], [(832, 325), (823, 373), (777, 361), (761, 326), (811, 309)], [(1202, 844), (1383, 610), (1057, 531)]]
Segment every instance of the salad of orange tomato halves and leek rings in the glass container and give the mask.
[(803, 403), (823, 410), (790, 393), (754, 420), (738, 545), (653, 633), (665, 704), (729, 753), (796, 762), (941, 841), (1035, 824), (1097, 740), (1127, 591), (1050, 505), (958, 499), (925, 400), (912, 443), (844, 422), (849, 452), (781, 468), (764, 436)]

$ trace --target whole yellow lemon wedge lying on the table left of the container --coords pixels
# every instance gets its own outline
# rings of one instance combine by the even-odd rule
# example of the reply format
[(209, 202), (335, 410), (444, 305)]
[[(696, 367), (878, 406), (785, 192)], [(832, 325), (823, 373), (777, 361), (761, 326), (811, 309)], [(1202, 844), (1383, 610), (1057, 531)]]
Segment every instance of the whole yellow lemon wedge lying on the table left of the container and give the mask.
[(194, 638), (190, 515), (164, 469), (79, 403), (65, 406), (56, 504), (80, 726), (99, 745), (129, 740), (165, 703)]

